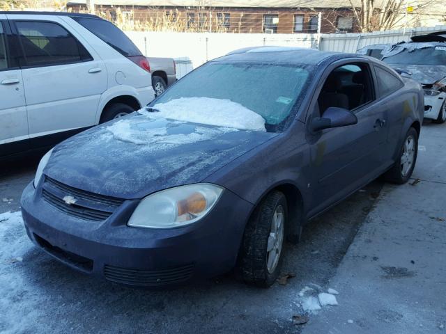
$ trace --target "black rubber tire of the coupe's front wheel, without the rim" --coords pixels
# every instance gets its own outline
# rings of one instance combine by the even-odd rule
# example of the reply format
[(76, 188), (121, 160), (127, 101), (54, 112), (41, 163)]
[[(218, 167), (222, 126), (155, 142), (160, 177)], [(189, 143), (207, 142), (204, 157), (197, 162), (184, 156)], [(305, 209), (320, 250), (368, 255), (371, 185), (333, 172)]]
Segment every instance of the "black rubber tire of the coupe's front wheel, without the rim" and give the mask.
[(283, 236), (286, 235), (286, 223), (288, 219), (288, 208), (286, 207), (286, 198), (280, 191), (272, 191), (256, 207), (245, 228), (243, 244), (240, 254), (239, 269), (240, 274), (249, 285), (258, 287), (270, 287), (280, 273), (280, 267), (283, 259), (284, 239), (279, 249), (279, 260), (275, 269), (268, 271), (268, 238), (272, 231), (272, 218), (279, 210), (283, 208)]

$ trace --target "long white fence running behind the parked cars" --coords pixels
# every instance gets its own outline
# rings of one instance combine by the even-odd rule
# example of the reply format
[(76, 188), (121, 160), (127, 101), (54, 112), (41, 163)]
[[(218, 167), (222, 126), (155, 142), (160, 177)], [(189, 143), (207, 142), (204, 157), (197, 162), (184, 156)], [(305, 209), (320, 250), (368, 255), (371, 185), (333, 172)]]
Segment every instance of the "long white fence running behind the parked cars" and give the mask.
[(312, 47), (321, 51), (356, 53), (367, 45), (396, 43), (409, 40), (413, 35), (431, 31), (446, 31), (446, 26), (415, 28), (374, 33), (321, 34), (265, 34), (265, 33), (164, 33), (128, 31), (126, 34), (146, 55), (170, 57), (176, 62), (177, 77), (190, 72), (210, 59), (224, 56), (243, 47), (276, 45)]

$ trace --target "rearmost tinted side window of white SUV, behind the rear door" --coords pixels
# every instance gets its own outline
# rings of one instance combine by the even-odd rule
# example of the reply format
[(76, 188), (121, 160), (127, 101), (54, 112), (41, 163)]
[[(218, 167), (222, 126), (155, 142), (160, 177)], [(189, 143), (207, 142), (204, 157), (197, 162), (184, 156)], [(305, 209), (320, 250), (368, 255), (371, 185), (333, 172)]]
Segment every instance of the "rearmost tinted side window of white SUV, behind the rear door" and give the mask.
[(84, 26), (85, 29), (94, 33), (98, 38), (113, 47), (116, 51), (125, 57), (141, 56), (141, 51), (133, 44), (125, 33), (121, 31), (112, 22), (105, 19), (91, 19), (88, 17), (72, 17), (77, 23)]

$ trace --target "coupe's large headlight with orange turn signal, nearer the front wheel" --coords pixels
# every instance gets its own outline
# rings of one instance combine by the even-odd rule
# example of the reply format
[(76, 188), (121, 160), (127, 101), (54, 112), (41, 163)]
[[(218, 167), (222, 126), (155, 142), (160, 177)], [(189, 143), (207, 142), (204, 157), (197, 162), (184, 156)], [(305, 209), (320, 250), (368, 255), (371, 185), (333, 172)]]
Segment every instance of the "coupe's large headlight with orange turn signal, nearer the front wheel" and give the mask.
[(177, 228), (203, 218), (222, 195), (215, 184), (177, 186), (143, 198), (134, 210), (129, 226), (136, 228)]

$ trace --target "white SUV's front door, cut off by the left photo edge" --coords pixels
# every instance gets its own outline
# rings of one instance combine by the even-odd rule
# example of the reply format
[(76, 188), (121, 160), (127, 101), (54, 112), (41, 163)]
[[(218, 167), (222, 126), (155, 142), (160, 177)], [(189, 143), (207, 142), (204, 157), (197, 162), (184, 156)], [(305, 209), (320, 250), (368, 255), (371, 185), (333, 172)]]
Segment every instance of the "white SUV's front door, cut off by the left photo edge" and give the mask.
[(0, 157), (28, 148), (28, 119), (22, 71), (10, 39), (6, 15), (0, 14)]

